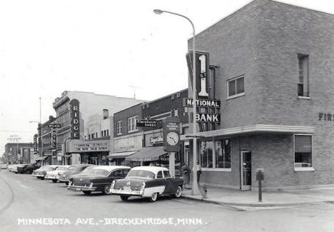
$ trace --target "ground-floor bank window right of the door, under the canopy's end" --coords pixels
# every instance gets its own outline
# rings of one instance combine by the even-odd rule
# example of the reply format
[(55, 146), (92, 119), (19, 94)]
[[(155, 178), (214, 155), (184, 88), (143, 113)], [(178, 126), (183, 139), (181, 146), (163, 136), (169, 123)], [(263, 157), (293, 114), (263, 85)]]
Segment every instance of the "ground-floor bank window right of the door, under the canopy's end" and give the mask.
[(295, 135), (295, 169), (313, 169), (313, 136)]

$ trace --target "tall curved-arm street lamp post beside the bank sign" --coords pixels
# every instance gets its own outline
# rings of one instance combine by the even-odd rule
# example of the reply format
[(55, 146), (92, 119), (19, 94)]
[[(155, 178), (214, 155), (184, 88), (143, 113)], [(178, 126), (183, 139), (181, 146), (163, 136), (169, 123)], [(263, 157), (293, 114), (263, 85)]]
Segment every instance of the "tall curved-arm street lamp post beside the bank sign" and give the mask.
[(186, 16), (183, 16), (182, 14), (173, 13), (171, 11), (162, 11), (160, 9), (153, 10), (155, 14), (173, 14), (176, 16), (181, 16), (184, 19), (187, 19), (191, 26), (193, 27), (193, 187), (191, 188), (191, 195), (198, 195), (199, 189), (198, 189), (198, 183), (197, 183), (197, 125), (196, 125), (196, 44), (195, 44), (195, 26), (193, 25), (193, 22)]

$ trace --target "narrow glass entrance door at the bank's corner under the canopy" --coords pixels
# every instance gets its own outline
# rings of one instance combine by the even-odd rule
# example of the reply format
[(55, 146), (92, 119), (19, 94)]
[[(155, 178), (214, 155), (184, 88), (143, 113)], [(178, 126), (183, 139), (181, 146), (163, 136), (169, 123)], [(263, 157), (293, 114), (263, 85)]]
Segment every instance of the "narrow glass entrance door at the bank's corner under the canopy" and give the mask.
[(251, 151), (241, 151), (241, 190), (251, 190), (252, 159)]

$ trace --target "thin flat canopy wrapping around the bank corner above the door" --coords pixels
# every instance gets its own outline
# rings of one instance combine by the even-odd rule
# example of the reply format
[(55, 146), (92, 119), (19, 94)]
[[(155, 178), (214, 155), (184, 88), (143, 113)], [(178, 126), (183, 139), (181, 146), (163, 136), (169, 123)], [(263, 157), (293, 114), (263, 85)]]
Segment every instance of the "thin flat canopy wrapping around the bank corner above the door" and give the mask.
[[(280, 126), (280, 125), (262, 125), (240, 126), (234, 128), (224, 128), (216, 131), (203, 131), (196, 133), (197, 137), (210, 138), (215, 136), (232, 136), (238, 134), (250, 133), (314, 133), (313, 126)], [(192, 139), (192, 134), (182, 135), (181, 140)]]

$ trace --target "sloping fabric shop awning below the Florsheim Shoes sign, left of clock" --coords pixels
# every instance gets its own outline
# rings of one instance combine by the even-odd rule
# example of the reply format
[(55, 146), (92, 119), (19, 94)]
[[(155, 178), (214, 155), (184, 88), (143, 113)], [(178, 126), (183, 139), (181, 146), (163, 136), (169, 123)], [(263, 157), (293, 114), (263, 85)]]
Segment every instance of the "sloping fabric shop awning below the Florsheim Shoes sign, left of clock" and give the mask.
[(151, 146), (142, 148), (141, 151), (134, 153), (131, 156), (126, 157), (128, 161), (157, 161), (160, 156), (166, 154), (163, 151), (163, 146)]

